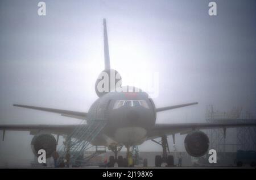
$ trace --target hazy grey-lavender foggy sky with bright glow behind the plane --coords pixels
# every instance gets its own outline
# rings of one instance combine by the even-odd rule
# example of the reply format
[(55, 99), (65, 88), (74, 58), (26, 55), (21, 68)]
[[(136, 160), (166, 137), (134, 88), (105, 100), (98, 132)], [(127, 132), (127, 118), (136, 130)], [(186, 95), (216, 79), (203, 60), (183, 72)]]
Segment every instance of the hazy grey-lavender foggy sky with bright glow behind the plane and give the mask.
[[(255, 114), (256, 1), (215, 1), (217, 16), (203, 0), (44, 1), (46, 16), (38, 16), (38, 2), (0, 1), (0, 124), (79, 122), (12, 104), (87, 112), (104, 69), (103, 18), (111, 66), (124, 85), (158, 72), (157, 107), (199, 102), (160, 112), (158, 123), (204, 122), (208, 104)], [(29, 132), (6, 132), (0, 164), (11, 154), (32, 159), (31, 139)], [(177, 137), (178, 150), (183, 139)], [(149, 141), (140, 149), (161, 148)]]

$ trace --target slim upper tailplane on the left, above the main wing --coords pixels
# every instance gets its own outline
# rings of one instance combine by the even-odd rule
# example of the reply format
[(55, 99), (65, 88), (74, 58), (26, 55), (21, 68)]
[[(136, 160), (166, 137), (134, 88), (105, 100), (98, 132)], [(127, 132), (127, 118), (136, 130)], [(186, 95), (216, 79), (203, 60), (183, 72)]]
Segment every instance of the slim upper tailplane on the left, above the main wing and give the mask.
[(62, 116), (68, 116), (70, 118), (76, 118), (76, 119), (86, 119), (86, 116), (87, 116), (86, 112), (59, 110), (59, 109), (55, 109), (55, 108), (27, 106), (27, 105), (21, 105), (21, 104), (13, 104), (13, 106), (23, 107), (23, 108), (30, 108), (30, 109), (33, 109), (33, 110), (54, 112), (54, 113), (57, 113), (57, 114), (61, 114)]

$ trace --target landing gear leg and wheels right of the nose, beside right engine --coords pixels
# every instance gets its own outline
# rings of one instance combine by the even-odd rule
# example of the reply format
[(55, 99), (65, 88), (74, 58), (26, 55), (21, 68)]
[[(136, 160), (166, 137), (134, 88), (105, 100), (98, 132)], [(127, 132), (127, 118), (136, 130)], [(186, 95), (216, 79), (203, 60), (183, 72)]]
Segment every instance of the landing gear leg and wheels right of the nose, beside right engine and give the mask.
[[(174, 138), (174, 144), (175, 144), (174, 135), (172, 137)], [(170, 153), (170, 149), (169, 149), (169, 145), (168, 145), (168, 141), (167, 141), (167, 136), (166, 135), (162, 136), (160, 142), (155, 141), (155, 140), (152, 140), (152, 141), (161, 145), (162, 148), (163, 148), (162, 157), (160, 155), (155, 156), (155, 166), (156, 167), (161, 167), (161, 165), (163, 163), (166, 163), (168, 167), (174, 166), (174, 156), (172, 156), (172, 155), (167, 156), (167, 150), (168, 150), (168, 153)]]

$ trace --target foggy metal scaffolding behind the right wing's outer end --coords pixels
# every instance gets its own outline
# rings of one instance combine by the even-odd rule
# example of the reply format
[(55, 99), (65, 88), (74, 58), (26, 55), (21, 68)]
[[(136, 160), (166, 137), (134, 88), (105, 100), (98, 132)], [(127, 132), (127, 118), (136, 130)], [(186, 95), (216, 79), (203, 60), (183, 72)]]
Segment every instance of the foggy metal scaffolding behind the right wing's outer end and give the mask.
[[(241, 107), (233, 108), (229, 112), (221, 112), (213, 109), (213, 105), (207, 106), (206, 117), (207, 122), (224, 123), (224, 122), (247, 122), (253, 119), (253, 115), (249, 111), (242, 111)], [(256, 128), (255, 127), (241, 127), (236, 128), (236, 142), (227, 144), (224, 130), (208, 129), (207, 135), (210, 141), (210, 149), (215, 149), (220, 154), (220, 160), (226, 158), (226, 147), (232, 146), (232, 151), (237, 150), (256, 150)]]

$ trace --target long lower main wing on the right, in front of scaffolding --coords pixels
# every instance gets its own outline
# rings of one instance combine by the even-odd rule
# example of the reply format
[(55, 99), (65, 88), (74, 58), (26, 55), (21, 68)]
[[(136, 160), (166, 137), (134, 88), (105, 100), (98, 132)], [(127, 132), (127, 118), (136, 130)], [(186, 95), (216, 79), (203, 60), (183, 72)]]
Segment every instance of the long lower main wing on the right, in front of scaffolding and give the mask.
[[(222, 122), (221, 122), (222, 121)], [(176, 123), (176, 124), (156, 124), (151, 131), (148, 132), (149, 139), (155, 139), (163, 135), (173, 135), (176, 133), (186, 134), (194, 130), (213, 129), (213, 128), (236, 128), (256, 126), (256, 119), (219, 119), (218, 123)]]

